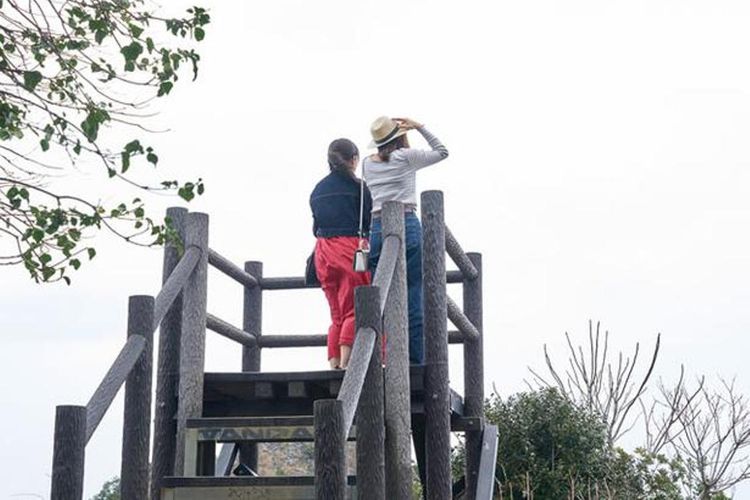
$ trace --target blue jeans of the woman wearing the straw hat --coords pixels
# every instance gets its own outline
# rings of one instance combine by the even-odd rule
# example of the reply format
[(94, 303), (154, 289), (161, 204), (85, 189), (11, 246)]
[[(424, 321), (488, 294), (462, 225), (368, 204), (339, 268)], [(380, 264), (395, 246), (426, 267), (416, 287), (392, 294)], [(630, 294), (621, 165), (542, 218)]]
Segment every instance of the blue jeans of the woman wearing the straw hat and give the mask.
[[(409, 302), (409, 362), (424, 363), (424, 335), (422, 333), (422, 225), (414, 213), (404, 215), (406, 225), (406, 287)], [(373, 276), (383, 246), (380, 218), (370, 226), (370, 269)]]

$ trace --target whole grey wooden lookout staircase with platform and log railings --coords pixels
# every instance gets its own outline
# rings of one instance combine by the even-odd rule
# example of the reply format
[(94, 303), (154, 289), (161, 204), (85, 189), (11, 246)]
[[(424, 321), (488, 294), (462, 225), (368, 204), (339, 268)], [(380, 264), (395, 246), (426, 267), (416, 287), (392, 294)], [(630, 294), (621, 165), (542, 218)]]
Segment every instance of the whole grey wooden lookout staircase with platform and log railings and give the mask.
[[(130, 297), (127, 341), (88, 404), (57, 407), (51, 500), (82, 499), (86, 444), (123, 385), (123, 500), (412, 500), (412, 445), (425, 499), (491, 500), (497, 429), (484, 422), (482, 258), (445, 226), (442, 193), (421, 201), (425, 365), (408, 362), (404, 209), (388, 202), (372, 285), (355, 291), (347, 370), (277, 373), (261, 371), (263, 350), (324, 347), (326, 337), (262, 331), (263, 295), (314, 285), (265, 277), (261, 262), (240, 268), (209, 248), (206, 214), (170, 208), (184, 248), (165, 248), (161, 290)], [(457, 270), (446, 270), (446, 253)], [(242, 285), (241, 328), (207, 311), (209, 267)], [(448, 284), (461, 286), (462, 307)], [(205, 373), (209, 331), (240, 345), (238, 372)], [(449, 385), (449, 343), (463, 350), (463, 397)], [(455, 485), (451, 432), (465, 435)], [(347, 440), (356, 442), (356, 477), (347, 475)], [(314, 442), (314, 476), (253, 473), (258, 443), (304, 441)]]

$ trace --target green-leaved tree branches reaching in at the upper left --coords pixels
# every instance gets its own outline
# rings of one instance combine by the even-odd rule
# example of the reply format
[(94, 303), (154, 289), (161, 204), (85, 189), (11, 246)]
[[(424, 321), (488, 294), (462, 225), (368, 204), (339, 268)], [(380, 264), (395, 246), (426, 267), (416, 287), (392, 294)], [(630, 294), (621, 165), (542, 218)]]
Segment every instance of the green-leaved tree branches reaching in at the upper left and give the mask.
[(140, 197), (104, 206), (97, 196), (49, 185), (77, 164), (99, 165), (145, 191), (190, 201), (200, 179), (139, 183), (136, 162), (156, 166), (155, 149), (113, 130), (149, 132), (154, 99), (185, 71), (198, 75), (191, 47), (206, 36), (208, 12), (161, 17), (144, 0), (0, 0), (0, 265), (22, 264), (36, 281), (65, 280), (96, 250), (88, 230), (107, 229), (141, 245), (174, 241), (168, 220), (148, 217)]

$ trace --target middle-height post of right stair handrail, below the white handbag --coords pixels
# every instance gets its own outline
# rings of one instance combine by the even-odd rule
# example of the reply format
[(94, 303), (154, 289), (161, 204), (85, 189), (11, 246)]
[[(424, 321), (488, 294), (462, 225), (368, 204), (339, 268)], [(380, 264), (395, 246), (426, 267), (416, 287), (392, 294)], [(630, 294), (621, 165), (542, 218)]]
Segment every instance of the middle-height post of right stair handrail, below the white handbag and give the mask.
[[(360, 500), (385, 498), (385, 422), (383, 364), (381, 361), (380, 290), (361, 286), (354, 292), (357, 331), (372, 328), (378, 333), (357, 408), (357, 470)], [(355, 339), (356, 342), (356, 339)]]

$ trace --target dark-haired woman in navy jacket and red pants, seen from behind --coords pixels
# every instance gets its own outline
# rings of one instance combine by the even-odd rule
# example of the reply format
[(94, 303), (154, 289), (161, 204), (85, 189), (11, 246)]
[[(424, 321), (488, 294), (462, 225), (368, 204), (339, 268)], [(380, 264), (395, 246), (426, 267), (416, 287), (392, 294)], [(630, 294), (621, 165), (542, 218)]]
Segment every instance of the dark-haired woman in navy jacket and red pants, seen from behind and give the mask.
[[(372, 198), (355, 175), (359, 150), (349, 139), (328, 147), (330, 173), (310, 195), (315, 244), (315, 270), (331, 308), (328, 361), (331, 368), (346, 368), (354, 344), (354, 289), (370, 284), (369, 272), (355, 272), (354, 252), (370, 230)], [(360, 193), (362, 234), (359, 232)]]

